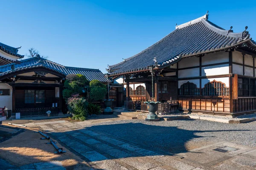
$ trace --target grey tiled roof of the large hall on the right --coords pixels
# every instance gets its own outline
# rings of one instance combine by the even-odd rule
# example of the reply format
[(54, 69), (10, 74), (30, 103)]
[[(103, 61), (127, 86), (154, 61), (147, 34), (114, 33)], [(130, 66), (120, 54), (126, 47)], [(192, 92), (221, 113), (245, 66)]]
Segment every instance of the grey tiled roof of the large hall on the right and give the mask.
[[(242, 42), (250, 41), (248, 31), (233, 33), (208, 21), (208, 14), (188, 23), (176, 26), (176, 29), (154, 45), (124, 61), (108, 66), (110, 75), (125, 74), (148, 70), (155, 65), (154, 57), (161, 68), (178, 62), (183, 57), (206, 54), (231, 48)], [(255, 46), (256, 47), (256, 46)]]

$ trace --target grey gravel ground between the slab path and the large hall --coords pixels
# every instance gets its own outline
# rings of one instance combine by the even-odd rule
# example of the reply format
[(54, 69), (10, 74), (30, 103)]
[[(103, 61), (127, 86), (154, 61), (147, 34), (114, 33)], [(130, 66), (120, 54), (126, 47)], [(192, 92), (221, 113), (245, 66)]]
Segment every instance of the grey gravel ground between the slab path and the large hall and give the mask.
[(200, 119), (145, 122), (122, 120), (88, 126), (140, 145), (171, 153), (182, 153), (216, 142), (256, 147), (256, 121), (227, 124)]

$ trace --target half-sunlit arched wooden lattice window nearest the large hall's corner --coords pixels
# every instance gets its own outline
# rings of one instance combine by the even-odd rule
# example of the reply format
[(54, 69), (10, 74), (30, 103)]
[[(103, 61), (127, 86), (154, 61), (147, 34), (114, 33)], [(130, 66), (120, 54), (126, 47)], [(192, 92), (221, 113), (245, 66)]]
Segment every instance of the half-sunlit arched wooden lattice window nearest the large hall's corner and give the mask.
[(213, 80), (202, 88), (203, 96), (229, 96), (229, 88), (222, 82)]

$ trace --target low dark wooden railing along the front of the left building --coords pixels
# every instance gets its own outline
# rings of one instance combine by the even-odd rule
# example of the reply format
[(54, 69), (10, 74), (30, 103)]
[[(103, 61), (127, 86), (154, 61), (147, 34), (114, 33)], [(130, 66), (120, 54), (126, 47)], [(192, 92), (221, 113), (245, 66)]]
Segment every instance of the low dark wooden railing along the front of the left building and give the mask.
[(47, 116), (47, 111), (51, 111), (51, 116), (58, 116), (59, 108), (23, 108), (16, 109), (20, 117)]

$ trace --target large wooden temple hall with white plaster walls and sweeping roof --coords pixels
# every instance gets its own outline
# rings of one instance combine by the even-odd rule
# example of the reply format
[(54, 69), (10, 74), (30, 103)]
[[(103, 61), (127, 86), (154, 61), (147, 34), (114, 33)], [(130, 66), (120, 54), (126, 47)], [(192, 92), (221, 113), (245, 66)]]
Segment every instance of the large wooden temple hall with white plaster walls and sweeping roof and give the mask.
[[(256, 43), (247, 26), (234, 33), (208, 20), (208, 12), (139, 54), (108, 66), (112, 85), (122, 85), (126, 109), (189, 111), (238, 116), (256, 111)], [(153, 76), (152, 76), (153, 74)], [(153, 86), (152, 79), (153, 78)], [(152, 87), (154, 97), (152, 97)]]

